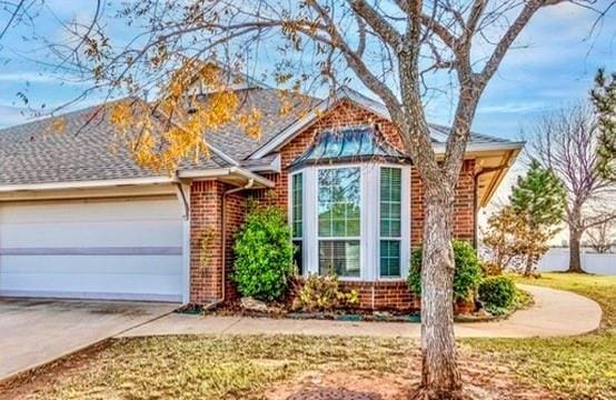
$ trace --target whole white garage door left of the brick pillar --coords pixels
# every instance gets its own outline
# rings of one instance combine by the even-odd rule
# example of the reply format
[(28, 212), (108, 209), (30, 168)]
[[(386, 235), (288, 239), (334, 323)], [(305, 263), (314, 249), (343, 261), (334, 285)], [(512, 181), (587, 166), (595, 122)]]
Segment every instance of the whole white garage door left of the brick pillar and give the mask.
[(180, 301), (175, 198), (0, 203), (0, 296)]

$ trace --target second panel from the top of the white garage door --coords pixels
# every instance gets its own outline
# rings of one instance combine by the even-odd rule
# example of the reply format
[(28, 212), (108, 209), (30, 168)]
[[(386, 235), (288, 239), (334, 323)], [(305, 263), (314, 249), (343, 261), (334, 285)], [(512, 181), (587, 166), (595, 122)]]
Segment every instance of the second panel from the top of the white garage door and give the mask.
[(181, 246), (178, 220), (3, 223), (2, 248)]

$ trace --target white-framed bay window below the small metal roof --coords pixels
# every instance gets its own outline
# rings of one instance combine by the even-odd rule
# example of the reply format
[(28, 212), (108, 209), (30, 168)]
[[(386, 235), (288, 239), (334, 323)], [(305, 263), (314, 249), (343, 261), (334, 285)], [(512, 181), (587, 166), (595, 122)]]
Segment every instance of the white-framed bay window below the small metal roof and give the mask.
[(305, 166), (289, 180), (296, 262), (341, 280), (404, 279), (410, 259), (409, 166)]

